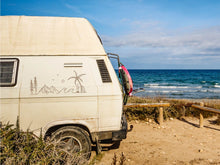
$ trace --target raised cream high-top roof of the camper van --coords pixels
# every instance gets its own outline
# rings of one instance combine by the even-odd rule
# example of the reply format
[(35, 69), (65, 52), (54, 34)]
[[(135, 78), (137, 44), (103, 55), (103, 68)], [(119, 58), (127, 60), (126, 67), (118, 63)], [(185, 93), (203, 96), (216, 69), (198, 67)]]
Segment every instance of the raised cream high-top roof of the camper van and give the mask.
[(85, 18), (0, 16), (0, 55), (106, 55)]

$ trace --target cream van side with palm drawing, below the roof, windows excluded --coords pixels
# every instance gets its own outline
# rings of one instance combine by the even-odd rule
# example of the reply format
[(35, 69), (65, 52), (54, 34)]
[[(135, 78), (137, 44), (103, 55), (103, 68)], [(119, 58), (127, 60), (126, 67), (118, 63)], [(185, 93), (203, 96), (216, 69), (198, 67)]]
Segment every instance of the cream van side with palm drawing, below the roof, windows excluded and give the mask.
[[(91, 133), (120, 130), (122, 94), (108, 58), (14, 57), (20, 61), (19, 78), (15, 87), (1, 88), (1, 119), (16, 123), (19, 116), (22, 130), (36, 135), (55, 124), (70, 123), (85, 125)], [(112, 82), (102, 82), (99, 59), (105, 61)]]

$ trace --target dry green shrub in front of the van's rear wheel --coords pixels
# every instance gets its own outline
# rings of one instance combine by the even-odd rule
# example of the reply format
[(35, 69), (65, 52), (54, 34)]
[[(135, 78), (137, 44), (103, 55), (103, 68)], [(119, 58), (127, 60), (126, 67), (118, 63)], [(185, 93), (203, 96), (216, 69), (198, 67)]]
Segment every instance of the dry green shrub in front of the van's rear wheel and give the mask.
[(31, 132), (6, 124), (0, 128), (0, 164), (86, 164), (80, 153), (69, 153), (53, 142), (36, 138)]

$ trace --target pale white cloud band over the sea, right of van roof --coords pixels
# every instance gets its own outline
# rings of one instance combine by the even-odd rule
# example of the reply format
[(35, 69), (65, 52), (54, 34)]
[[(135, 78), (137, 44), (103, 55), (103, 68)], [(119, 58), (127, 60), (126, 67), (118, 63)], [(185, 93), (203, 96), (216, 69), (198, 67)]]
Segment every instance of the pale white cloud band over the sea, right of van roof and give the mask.
[[(137, 25), (140, 22), (134, 22), (134, 24)], [(148, 48), (148, 51), (153, 51), (149, 53), (220, 56), (220, 26), (191, 32), (182, 30), (178, 33), (167, 32), (159, 27), (152, 28), (155, 26), (157, 23), (146, 23), (141, 28), (137, 28), (136, 32), (118, 37), (102, 36), (102, 40), (107, 47)]]

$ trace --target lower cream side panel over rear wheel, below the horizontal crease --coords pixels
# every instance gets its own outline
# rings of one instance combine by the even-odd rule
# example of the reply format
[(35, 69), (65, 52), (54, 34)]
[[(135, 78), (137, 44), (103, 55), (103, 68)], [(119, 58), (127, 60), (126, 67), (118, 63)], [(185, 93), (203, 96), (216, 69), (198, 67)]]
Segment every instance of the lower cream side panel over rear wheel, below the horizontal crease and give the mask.
[[(87, 100), (86, 102), (83, 101), (85, 99)], [(21, 99), (21, 128), (24, 131), (27, 129), (35, 131), (41, 128), (45, 130), (48, 125), (54, 126), (51, 123), (79, 124), (84, 120), (85, 126), (90, 131), (97, 131), (98, 117), (96, 100), (97, 98), (95, 97)], [(79, 122), (80, 120), (81, 122)]]

